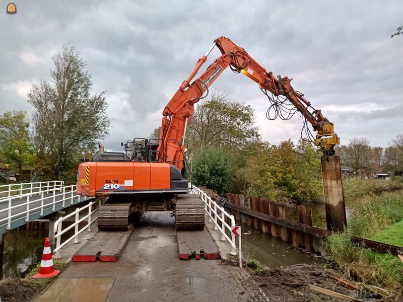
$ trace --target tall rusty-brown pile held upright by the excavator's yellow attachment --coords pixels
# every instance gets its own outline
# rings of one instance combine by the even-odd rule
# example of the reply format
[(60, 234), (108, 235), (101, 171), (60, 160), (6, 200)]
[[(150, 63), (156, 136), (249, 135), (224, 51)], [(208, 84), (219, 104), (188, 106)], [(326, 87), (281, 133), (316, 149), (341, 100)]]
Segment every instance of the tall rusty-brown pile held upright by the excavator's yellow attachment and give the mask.
[(327, 230), (341, 232), (347, 225), (339, 156), (321, 160)]

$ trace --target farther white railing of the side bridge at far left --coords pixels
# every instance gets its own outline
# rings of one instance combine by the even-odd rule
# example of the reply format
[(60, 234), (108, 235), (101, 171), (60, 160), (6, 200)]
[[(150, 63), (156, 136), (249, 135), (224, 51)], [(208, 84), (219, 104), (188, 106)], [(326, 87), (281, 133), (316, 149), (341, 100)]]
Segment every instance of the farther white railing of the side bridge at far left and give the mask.
[[(31, 183), (8, 184), (0, 186), (0, 200), (8, 199), (9, 197), (23, 195), (25, 193), (32, 194), (33, 192), (39, 193), (42, 189), (55, 189), (64, 186), (64, 181), (40, 181)], [(13, 194), (16, 193), (16, 194)]]

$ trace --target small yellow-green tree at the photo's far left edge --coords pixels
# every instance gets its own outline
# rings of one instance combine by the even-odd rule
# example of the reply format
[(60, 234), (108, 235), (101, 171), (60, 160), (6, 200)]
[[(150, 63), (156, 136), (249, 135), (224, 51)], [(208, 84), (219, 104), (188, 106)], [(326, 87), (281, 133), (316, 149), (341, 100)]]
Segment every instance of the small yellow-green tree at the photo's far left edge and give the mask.
[(32, 163), (33, 145), (29, 138), (29, 122), (25, 111), (5, 112), (0, 116), (0, 154), (12, 170)]

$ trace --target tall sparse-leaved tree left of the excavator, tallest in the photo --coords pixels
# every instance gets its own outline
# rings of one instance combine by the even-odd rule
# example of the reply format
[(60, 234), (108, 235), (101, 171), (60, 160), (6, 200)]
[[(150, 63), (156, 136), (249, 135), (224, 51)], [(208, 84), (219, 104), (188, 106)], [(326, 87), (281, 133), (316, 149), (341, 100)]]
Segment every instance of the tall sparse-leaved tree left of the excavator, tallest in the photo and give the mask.
[(34, 143), (39, 168), (49, 177), (73, 181), (78, 159), (108, 135), (107, 102), (104, 92), (91, 95), (87, 63), (74, 46), (63, 45), (52, 60), (51, 82), (42, 80), (28, 94), (35, 108)]

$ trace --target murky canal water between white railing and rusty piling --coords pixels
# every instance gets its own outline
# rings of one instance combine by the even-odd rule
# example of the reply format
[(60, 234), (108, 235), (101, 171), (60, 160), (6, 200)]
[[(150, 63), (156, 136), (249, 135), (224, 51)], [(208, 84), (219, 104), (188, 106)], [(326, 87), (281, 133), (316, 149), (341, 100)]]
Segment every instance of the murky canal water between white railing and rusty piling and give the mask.
[(322, 257), (296, 248), (280, 238), (255, 230), (246, 223), (240, 224), (242, 255), (246, 260), (256, 259), (268, 267), (325, 262)]

